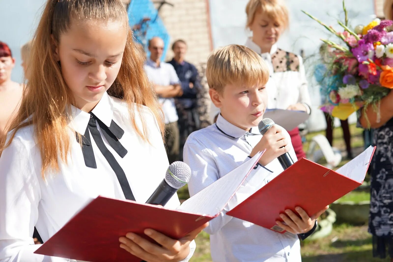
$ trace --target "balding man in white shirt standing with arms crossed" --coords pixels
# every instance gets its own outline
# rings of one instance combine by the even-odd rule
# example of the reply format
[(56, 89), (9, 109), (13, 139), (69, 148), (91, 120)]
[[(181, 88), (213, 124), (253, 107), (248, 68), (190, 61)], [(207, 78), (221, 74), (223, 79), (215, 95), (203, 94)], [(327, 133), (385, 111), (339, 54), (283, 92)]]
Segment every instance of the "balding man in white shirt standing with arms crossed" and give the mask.
[(150, 59), (145, 65), (146, 73), (154, 84), (165, 117), (165, 144), (169, 163), (178, 160), (179, 156), (179, 128), (178, 115), (174, 104), (174, 97), (183, 94), (180, 80), (169, 63), (161, 62), (164, 41), (160, 37), (153, 37), (149, 41)]

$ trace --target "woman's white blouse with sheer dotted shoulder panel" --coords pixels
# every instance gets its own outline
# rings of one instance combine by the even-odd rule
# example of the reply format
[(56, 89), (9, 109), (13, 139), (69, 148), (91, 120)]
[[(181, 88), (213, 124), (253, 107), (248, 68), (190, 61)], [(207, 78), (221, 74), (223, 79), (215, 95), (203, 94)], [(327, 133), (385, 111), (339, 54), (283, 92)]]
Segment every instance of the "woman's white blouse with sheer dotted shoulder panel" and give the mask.
[(269, 68), (267, 108), (286, 109), (292, 104), (303, 103), (310, 114), (311, 99), (301, 56), (278, 49), (275, 44), (270, 53), (262, 53), (251, 38), (247, 39), (245, 46), (260, 54)]

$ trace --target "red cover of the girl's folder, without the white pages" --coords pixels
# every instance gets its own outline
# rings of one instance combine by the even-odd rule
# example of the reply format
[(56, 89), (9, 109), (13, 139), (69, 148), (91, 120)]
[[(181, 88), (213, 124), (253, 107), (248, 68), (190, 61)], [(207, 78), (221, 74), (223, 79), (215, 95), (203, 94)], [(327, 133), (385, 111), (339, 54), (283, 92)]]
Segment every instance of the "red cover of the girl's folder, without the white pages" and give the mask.
[(143, 230), (152, 228), (178, 239), (212, 218), (99, 196), (35, 253), (92, 262), (140, 262), (119, 247), (120, 236), (134, 232), (148, 238)]

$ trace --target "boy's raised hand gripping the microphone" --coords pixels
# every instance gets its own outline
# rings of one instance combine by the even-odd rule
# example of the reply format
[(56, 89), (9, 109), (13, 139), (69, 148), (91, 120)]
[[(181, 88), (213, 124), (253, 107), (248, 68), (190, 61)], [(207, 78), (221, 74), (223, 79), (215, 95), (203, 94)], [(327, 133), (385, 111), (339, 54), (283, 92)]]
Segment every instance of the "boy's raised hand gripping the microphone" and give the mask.
[(285, 154), (289, 151), (290, 146), (288, 141), (282, 132), (282, 128), (278, 125), (273, 125), (261, 138), (261, 141), (255, 145), (252, 149), (250, 156), (253, 157), (259, 151), (263, 151), (266, 148), (266, 152), (263, 153), (259, 163), (266, 166), (272, 162), (273, 159)]

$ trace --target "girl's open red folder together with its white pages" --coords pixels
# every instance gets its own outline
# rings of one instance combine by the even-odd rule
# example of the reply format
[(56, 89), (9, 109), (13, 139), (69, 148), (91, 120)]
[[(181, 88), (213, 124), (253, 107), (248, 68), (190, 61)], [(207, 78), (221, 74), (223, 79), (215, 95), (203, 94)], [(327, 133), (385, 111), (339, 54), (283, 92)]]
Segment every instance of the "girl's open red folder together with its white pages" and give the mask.
[(133, 232), (149, 239), (143, 230), (152, 228), (171, 238), (182, 238), (220, 214), (262, 154), (244, 162), (176, 210), (99, 196), (35, 253), (91, 262), (140, 262), (140, 258), (119, 247), (120, 236)]

